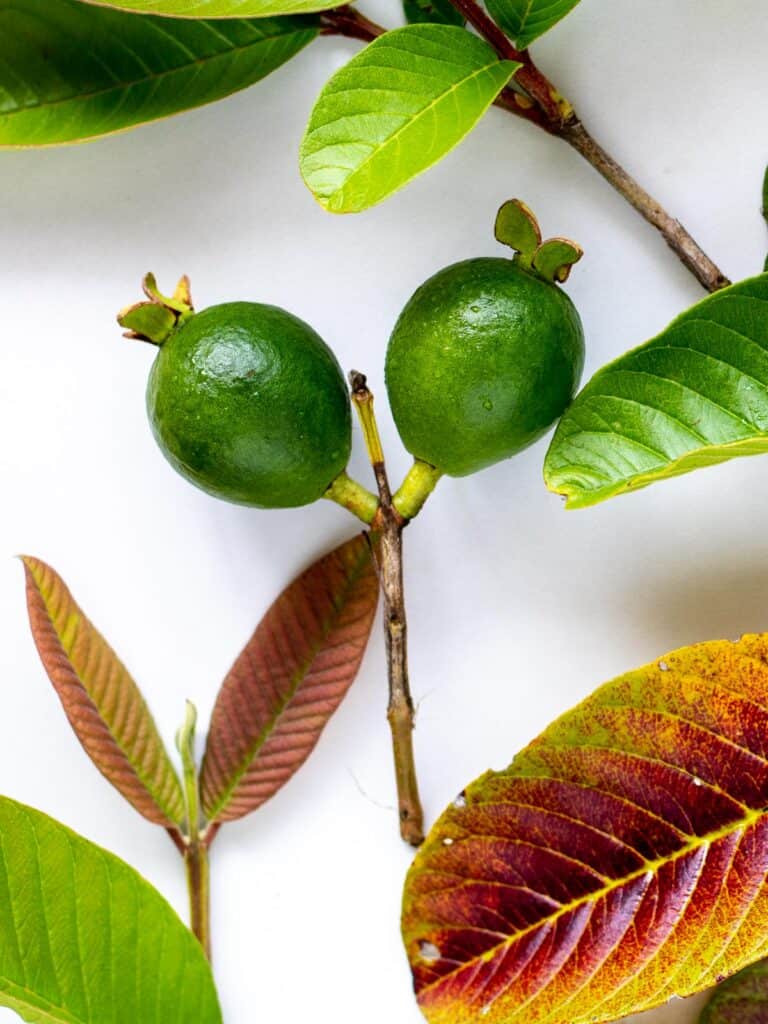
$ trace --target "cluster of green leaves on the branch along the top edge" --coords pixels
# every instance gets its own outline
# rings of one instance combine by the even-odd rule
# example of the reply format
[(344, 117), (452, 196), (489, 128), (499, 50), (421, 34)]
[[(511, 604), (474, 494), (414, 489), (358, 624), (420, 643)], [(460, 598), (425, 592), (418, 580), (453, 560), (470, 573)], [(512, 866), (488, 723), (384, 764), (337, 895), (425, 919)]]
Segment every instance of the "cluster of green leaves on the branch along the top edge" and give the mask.
[[(492, 13), (523, 48), (575, 3), (495, 0)], [(458, 6), (403, 0), (410, 24), (374, 38), (331, 0), (15, 0), (0, 7), (0, 146), (82, 141), (191, 110), (321, 35), (351, 35), (373, 41), (323, 89), (300, 162), (326, 209), (364, 210), (444, 157), (520, 67), (466, 31)]]

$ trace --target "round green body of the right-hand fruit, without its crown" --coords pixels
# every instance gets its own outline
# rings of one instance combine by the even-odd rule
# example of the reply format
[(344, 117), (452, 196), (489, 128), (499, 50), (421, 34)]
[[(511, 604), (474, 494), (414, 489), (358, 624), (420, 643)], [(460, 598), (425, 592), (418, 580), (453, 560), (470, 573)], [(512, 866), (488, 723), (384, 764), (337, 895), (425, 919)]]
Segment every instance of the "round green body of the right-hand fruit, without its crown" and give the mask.
[(412, 455), (451, 476), (508, 459), (564, 412), (584, 369), (584, 331), (560, 288), (509, 259), (464, 260), (410, 299), (386, 381)]

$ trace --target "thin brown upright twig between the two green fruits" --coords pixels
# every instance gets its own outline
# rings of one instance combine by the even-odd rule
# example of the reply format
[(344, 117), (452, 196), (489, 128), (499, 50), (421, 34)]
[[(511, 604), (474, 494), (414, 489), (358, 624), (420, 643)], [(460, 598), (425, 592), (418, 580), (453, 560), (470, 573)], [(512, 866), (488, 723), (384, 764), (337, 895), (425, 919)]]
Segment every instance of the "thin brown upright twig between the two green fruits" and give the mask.
[(400, 836), (412, 846), (424, 840), (424, 813), (414, 758), (414, 701), (408, 674), (408, 620), (402, 581), (402, 530), (408, 524), (392, 501), (384, 453), (374, 417), (374, 398), (366, 377), (349, 375), (352, 401), (362, 427), (379, 490), (379, 509), (371, 526), (378, 557), (384, 604), (384, 638), (387, 651), (389, 702), (387, 721), (392, 733), (392, 754), (397, 783)]

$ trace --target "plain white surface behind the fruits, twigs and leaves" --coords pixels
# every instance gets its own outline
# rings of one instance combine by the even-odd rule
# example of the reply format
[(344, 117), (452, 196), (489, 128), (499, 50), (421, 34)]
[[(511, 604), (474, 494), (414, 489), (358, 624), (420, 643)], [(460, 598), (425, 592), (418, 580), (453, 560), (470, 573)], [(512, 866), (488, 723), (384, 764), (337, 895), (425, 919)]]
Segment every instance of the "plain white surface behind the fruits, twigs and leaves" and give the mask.
[[(392, 0), (368, 8), (397, 19)], [(153, 350), (116, 310), (152, 268), (199, 307), (285, 305), (367, 371), (390, 471), (408, 465), (382, 390), (400, 307), (454, 260), (499, 253), (524, 199), (586, 257), (568, 291), (587, 374), (701, 296), (639, 217), (564, 144), (493, 111), (442, 164), (369, 213), (312, 201), (297, 146), (312, 99), (356, 49), (323, 40), (207, 109), (83, 146), (0, 158), (0, 791), (139, 868), (184, 912), (181, 864), (74, 739), (28, 635), (22, 568), (49, 560), (172, 736), (276, 592), (355, 530), (330, 504), (227, 506), (163, 461), (143, 390)], [(733, 279), (762, 265), (764, 0), (583, 0), (536, 47), (585, 122)], [(432, 820), (602, 681), (696, 640), (768, 627), (768, 471), (742, 460), (565, 513), (546, 441), (445, 480), (408, 534), (412, 674)], [(357, 443), (354, 469), (365, 476)], [(411, 854), (395, 836), (377, 634), (307, 766), (213, 852), (215, 969), (227, 1024), (417, 1024), (398, 937)], [(644, 1018), (693, 1020), (690, 1004)], [(5, 1020), (5, 1016), (2, 1016)]]

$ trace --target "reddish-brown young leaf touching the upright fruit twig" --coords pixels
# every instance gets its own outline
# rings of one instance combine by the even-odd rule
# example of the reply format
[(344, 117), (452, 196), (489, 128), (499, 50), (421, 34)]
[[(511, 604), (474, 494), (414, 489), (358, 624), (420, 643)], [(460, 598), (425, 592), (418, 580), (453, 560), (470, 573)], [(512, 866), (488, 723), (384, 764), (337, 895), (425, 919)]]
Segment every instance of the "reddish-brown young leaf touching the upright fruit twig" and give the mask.
[(213, 711), (201, 775), (209, 821), (255, 810), (304, 763), (357, 674), (378, 595), (359, 536), (315, 562), (269, 608)]

